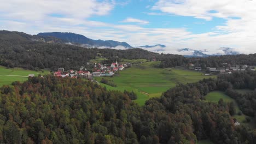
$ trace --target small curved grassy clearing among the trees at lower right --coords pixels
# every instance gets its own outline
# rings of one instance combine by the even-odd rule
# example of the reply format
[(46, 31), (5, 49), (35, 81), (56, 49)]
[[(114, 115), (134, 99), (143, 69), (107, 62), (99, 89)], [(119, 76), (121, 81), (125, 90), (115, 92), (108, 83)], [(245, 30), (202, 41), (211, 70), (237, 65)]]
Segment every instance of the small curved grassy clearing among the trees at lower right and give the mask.
[[(238, 104), (236, 103), (236, 101), (232, 98), (230, 98), (228, 95), (225, 95), (223, 92), (220, 91), (214, 91), (214, 92), (210, 92), (206, 95), (206, 101), (210, 101), (213, 103), (218, 103), (219, 99), (223, 99), (225, 102), (231, 102), (233, 101), (236, 107), (236, 115), (232, 116), (232, 118), (236, 118), (238, 122), (247, 125), (249, 127), (253, 127), (255, 128), (255, 124), (254, 124), (254, 120), (253, 118), (251, 118), (251, 122), (247, 123), (246, 122), (246, 115), (244, 115), (242, 113), (242, 111), (239, 109)], [(238, 112), (241, 112), (241, 115), (238, 115)]]

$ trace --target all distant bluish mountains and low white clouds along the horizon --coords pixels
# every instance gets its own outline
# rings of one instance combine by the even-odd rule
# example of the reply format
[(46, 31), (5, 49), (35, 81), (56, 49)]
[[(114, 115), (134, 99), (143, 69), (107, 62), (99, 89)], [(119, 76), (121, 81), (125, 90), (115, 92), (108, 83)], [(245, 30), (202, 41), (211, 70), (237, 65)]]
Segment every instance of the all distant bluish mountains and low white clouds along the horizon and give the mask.
[[(51, 33), (39, 33), (40, 37), (55, 37), (66, 41), (66, 43), (80, 44), (85, 47), (102, 47), (102, 48), (114, 48), (114, 49), (131, 49), (140, 48), (153, 52), (165, 51), (166, 45), (144, 45), (144, 46), (131, 46), (126, 42), (119, 42), (114, 40), (94, 40), (85, 37), (81, 34), (75, 33), (62, 33), (62, 32), (51, 32)], [(189, 48), (183, 48), (176, 50), (179, 55), (184, 55), (186, 57), (208, 57), (216, 55), (238, 55), (239, 52), (235, 51), (230, 47), (220, 47), (218, 51), (213, 54), (208, 54), (207, 50), (194, 50)]]

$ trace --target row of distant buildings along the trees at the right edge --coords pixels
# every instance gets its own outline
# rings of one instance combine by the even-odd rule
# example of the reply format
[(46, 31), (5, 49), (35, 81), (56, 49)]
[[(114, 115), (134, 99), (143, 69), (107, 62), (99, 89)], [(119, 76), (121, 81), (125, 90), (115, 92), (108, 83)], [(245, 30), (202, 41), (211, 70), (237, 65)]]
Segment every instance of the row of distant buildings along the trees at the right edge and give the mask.
[[(232, 71), (245, 71), (245, 70), (255, 70), (254, 67), (248, 66), (248, 65), (234, 65), (231, 66), (228, 63), (223, 63), (223, 65), (226, 65), (226, 67), (223, 68), (211, 68), (207, 67), (207, 71), (210, 73), (221, 73), (221, 74), (231, 74)], [(194, 69), (196, 71), (201, 71), (202, 67), (197, 67), (194, 64), (189, 64), (189, 69)]]

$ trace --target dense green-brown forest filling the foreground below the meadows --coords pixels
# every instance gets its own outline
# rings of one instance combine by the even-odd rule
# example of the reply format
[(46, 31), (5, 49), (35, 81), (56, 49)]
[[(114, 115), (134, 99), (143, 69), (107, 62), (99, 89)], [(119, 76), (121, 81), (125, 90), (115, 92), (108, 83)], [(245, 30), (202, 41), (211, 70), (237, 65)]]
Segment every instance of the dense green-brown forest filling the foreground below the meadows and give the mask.
[[(141, 107), (130, 99), (132, 93), (107, 91), (83, 79), (30, 77), (0, 88), (0, 142), (255, 143), (252, 129), (234, 126), (231, 103), (204, 101), (211, 91), (254, 89), (255, 79), (254, 72), (246, 72), (181, 84)], [(238, 102), (243, 112), (255, 113), (252, 97)]]

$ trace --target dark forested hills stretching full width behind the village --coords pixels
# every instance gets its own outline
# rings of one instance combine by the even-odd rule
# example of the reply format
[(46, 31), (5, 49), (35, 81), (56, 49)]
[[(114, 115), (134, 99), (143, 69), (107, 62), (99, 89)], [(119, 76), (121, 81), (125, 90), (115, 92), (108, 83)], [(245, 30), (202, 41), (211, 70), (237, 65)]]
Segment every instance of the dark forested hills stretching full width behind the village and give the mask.
[(186, 58), (181, 55), (159, 54), (143, 49), (87, 49), (67, 45), (55, 37), (39, 37), (20, 32), (0, 31), (0, 65), (37, 70), (59, 67), (78, 69), (85, 66), (98, 53), (107, 58), (107, 63), (116, 59), (155, 59), (161, 61), (159, 67), (177, 67), (194, 63), (206, 67), (223, 67), (223, 63), (256, 65), (256, 54), (234, 56), (212, 56), (206, 58)]

